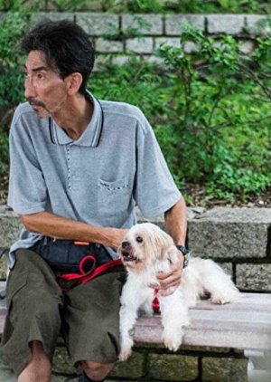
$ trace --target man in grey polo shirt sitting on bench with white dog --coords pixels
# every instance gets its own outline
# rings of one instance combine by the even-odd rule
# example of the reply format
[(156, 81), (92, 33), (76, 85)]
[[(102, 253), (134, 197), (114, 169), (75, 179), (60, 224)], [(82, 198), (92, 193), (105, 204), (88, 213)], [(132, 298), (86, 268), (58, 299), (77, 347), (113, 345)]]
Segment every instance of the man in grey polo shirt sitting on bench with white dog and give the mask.
[[(147, 218), (164, 213), (168, 232), (184, 245), (186, 207), (143, 113), (86, 90), (94, 52), (78, 25), (39, 24), (22, 48), (28, 102), (11, 128), (8, 204), (24, 228), (9, 255), (2, 351), (19, 382), (50, 381), (61, 330), (71, 361), (83, 370), (79, 380), (101, 381), (119, 351), (124, 271), (65, 293), (57, 276), (78, 269), (89, 251), (98, 264), (116, 259), (135, 224), (135, 204)], [(157, 275), (160, 293), (180, 284), (182, 263), (180, 252), (172, 272)]]

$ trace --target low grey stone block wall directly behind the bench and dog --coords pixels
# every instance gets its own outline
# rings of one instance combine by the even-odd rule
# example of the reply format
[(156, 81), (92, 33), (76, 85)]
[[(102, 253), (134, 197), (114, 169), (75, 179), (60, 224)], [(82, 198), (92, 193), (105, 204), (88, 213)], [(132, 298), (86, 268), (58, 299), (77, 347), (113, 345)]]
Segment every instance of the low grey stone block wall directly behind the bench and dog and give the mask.
[[(164, 227), (163, 216), (153, 222)], [(21, 227), (18, 215), (0, 206), (0, 248), (14, 243)], [(194, 256), (220, 263), (241, 291), (271, 292), (270, 208), (189, 208), (188, 245)], [(5, 275), (2, 260), (0, 279)]]

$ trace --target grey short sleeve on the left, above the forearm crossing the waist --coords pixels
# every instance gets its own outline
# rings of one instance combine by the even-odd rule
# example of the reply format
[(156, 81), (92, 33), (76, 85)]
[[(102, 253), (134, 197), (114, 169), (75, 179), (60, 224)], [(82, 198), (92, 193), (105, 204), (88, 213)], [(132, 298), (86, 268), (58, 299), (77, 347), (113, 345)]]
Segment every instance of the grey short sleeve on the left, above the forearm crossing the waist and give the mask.
[(20, 215), (44, 211), (47, 201), (45, 182), (28, 129), (23, 117), (15, 112), (9, 140), (10, 179), (7, 203)]

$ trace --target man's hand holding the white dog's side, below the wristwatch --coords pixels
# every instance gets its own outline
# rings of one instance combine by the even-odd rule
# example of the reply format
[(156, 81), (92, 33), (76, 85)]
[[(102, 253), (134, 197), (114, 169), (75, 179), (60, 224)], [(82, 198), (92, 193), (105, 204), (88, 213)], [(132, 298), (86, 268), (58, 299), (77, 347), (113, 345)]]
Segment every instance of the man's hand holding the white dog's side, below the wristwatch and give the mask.
[(169, 296), (170, 294), (173, 294), (173, 292), (181, 285), (182, 267), (183, 256), (182, 253), (180, 253), (178, 262), (171, 265), (171, 272), (159, 272), (156, 274), (157, 281), (159, 282), (158, 288), (157, 284), (150, 284), (149, 286), (158, 289), (160, 296)]

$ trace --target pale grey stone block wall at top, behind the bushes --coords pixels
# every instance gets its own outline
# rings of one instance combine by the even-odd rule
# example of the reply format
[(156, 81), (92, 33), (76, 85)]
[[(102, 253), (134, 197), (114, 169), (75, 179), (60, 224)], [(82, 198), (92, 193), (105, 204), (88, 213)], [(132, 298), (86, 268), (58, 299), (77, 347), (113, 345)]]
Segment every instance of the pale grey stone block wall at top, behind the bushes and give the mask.
[[(98, 59), (96, 69), (110, 53), (112, 61), (127, 62), (129, 55), (140, 54), (146, 61), (159, 62), (155, 50), (161, 43), (180, 46), (180, 35), (185, 24), (192, 24), (207, 35), (220, 37), (230, 34), (241, 42), (240, 53), (253, 52), (258, 33), (270, 32), (266, 16), (260, 14), (108, 14), (98, 12), (42, 12), (34, 22), (43, 18), (69, 19), (89, 33)], [(196, 44), (187, 42), (184, 50), (193, 53)]]

